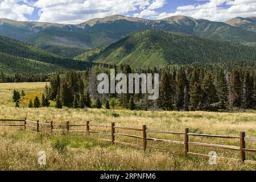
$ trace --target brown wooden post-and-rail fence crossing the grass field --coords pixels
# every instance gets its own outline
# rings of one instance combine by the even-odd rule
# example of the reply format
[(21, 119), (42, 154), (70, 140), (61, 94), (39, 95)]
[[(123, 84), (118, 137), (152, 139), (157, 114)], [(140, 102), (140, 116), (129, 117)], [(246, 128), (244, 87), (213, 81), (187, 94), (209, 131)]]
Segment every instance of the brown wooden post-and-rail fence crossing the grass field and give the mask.
[[(162, 150), (162, 151), (170, 151), (175, 153), (183, 153), (185, 155), (193, 155), (193, 156), (201, 156), (201, 157), (207, 157), (210, 158), (212, 156), (210, 155), (204, 155), (204, 154), (197, 154), (194, 152), (189, 152), (189, 146), (203, 146), (203, 147), (213, 147), (213, 148), (222, 148), (226, 150), (233, 150), (233, 151), (239, 151), (240, 152), (240, 159), (232, 159), (232, 158), (225, 158), (217, 156), (217, 159), (229, 159), (229, 160), (236, 160), (240, 161), (241, 163), (248, 163), (248, 164), (256, 164), (256, 161), (254, 160), (246, 160), (246, 152), (256, 152), (256, 149), (250, 149), (246, 148), (246, 142), (256, 142), (256, 138), (247, 138), (245, 137), (245, 132), (241, 131), (240, 136), (228, 136), (228, 135), (208, 135), (208, 134), (196, 134), (196, 133), (189, 133), (189, 129), (185, 128), (184, 132), (172, 132), (172, 131), (158, 131), (158, 130), (148, 130), (146, 125), (143, 125), (141, 129), (134, 128), (134, 127), (122, 127), (122, 126), (115, 126), (115, 123), (111, 123), (111, 125), (99, 125), (99, 124), (92, 124), (89, 121), (86, 121), (86, 123), (69, 123), (67, 121), (66, 124), (61, 123), (44, 123), (39, 121), (30, 121), (28, 119), (0, 119), (0, 122), (18, 122), (19, 124), (10, 124), (10, 123), (0, 123), (0, 126), (14, 126), (14, 127), (24, 127), (24, 130), (27, 129), (27, 127), (31, 127), (36, 129), (36, 132), (39, 132), (40, 130), (46, 130), (53, 132), (67, 132), (67, 133), (86, 133), (89, 135), (90, 133), (94, 134), (101, 134), (101, 135), (109, 135), (110, 139), (100, 139), (104, 140), (106, 142), (110, 142), (112, 144), (125, 144), (133, 147), (141, 147), (143, 150), (146, 150), (147, 148), (151, 148), (154, 150)], [(81, 127), (86, 126), (86, 130), (71, 130), (72, 126)], [(62, 129), (55, 129), (55, 127), (62, 127)], [(105, 131), (96, 131), (91, 130), (90, 127), (101, 127), (110, 129), (110, 132)], [(116, 130), (130, 130), (130, 131), (139, 131), (141, 132), (141, 136), (138, 135), (130, 135), (130, 134), (121, 134), (117, 133)], [(176, 141), (176, 140), (167, 140), (167, 139), (159, 139), (159, 138), (150, 138), (147, 137), (148, 133), (160, 133), (160, 134), (172, 134), (172, 135), (183, 135), (184, 141)], [(134, 143), (127, 143), (127, 142), (121, 142), (115, 139), (116, 136), (122, 136), (122, 137), (130, 137), (130, 138), (137, 138), (142, 140), (142, 144), (134, 144)], [(194, 137), (208, 137), (208, 138), (222, 138), (222, 139), (238, 139), (240, 142), (240, 146), (229, 146), (229, 145), (223, 145), (223, 144), (208, 144), (208, 143), (198, 143), (198, 142), (189, 142), (189, 136)], [(171, 144), (181, 144), (184, 146), (184, 150), (172, 150), (167, 148), (159, 148), (159, 147), (153, 147), (148, 146), (147, 141), (152, 142), (167, 142)]]

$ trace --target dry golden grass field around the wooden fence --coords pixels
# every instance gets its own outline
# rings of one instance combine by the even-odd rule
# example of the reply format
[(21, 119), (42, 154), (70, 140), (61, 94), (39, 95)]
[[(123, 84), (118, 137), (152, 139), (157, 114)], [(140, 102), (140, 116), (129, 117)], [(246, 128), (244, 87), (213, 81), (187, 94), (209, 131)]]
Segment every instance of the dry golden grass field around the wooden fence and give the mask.
[[(56, 109), (27, 108), (30, 97), (40, 96), (46, 83), (0, 84), (0, 119), (24, 119), (32, 121), (65, 123), (101, 123), (116, 126), (139, 127), (147, 125), (150, 130), (181, 131), (189, 127), (191, 133), (239, 136), (240, 131), (246, 137), (256, 137), (256, 111), (233, 112), (177, 112), (177, 111), (127, 111), (117, 110), (119, 117), (112, 117), (111, 110), (105, 109)], [(12, 102), (13, 90), (24, 90), (25, 98), (20, 107)], [(24, 102), (23, 102), (24, 101)], [(75, 128), (72, 128), (75, 129)], [(81, 130), (81, 128), (80, 128)], [(108, 131), (108, 129), (101, 129)], [(119, 131), (125, 133), (126, 131)], [(129, 131), (131, 134), (131, 132)], [(134, 135), (142, 135), (134, 131)], [(184, 140), (184, 136), (170, 134), (150, 134), (148, 137)], [(0, 127), (0, 169), (2, 170), (256, 170), (256, 165), (241, 164), (232, 160), (218, 160), (217, 165), (209, 165), (207, 158), (184, 156), (141, 148), (126, 147), (96, 138), (109, 138), (97, 134), (50, 134), (45, 131), (35, 133), (32, 129)], [(139, 139), (117, 137), (123, 142), (142, 144)], [(239, 139), (212, 139), (189, 137), (191, 142), (215, 143), (239, 146)], [(166, 143), (148, 143), (183, 150), (183, 146)], [(247, 142), (247, 148), (256, 148), (256, 142)], [(46, 151), (47, 165), (39, 166), (38, 152)], [(239, 159), (239, 152), (193, 146), (189, 151), (208, 154), (216, 151), (218, 156)], [(247, 154), (247, 153), (246, 153)], [(247, 154), (249, 160), (256, 160), (256, 155)]]

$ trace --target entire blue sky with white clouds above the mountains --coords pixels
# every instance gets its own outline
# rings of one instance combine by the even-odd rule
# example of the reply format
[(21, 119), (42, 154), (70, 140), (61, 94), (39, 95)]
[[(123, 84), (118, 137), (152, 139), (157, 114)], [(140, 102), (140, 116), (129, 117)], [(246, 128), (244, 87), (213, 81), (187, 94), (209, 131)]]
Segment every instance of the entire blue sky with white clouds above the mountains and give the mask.
[(0, 0), (0, 18), (77, 24), (120, 14), (146, 19), (185, 15), (224, 21), (256, 16), (256, 0)]

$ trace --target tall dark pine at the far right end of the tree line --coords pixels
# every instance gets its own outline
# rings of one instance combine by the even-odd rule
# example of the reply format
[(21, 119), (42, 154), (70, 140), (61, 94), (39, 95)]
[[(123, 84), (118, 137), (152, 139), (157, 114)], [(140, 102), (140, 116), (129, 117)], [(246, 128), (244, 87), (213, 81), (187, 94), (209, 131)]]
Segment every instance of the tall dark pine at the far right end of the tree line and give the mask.
[(254, 77), (253, 74), (246, 69), (243, 78), (243, 102), (247, 109), (253, 109), (255, 105), (254, 95)]

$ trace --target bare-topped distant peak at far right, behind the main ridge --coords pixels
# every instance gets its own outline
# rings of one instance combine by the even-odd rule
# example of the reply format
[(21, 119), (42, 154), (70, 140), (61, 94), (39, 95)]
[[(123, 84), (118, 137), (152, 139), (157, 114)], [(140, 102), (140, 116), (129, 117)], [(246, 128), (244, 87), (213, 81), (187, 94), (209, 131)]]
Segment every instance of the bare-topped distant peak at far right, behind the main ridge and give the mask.
[(247, 31), (256, 32), (255, 16), (251, 16), (247, 18), (236, 17), (236, 18), (227, 20), (225, 23), (230, 24), (231, 26), (234, 26), (234, 27), (243, 28), (244, 30), (247, 30)]

